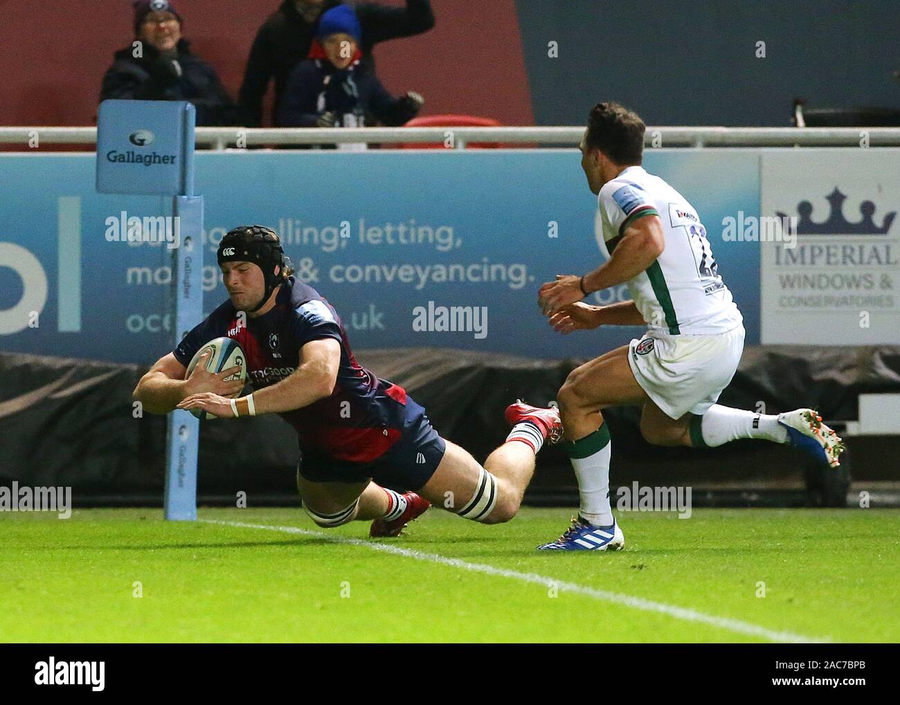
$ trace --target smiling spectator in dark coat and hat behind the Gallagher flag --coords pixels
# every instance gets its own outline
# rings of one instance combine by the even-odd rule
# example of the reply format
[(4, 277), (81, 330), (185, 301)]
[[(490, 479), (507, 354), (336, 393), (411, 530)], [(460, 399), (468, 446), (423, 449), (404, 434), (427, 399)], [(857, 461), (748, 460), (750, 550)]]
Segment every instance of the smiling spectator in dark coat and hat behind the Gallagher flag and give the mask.
[(181, 37), (181, 15), (167, 0), (134, 3), (134, 35), (139, 40), (116, 51), (103, 77), (100, 100), (186, 100), (198, 125), (238, 125), (240, 111), (205, 61)]

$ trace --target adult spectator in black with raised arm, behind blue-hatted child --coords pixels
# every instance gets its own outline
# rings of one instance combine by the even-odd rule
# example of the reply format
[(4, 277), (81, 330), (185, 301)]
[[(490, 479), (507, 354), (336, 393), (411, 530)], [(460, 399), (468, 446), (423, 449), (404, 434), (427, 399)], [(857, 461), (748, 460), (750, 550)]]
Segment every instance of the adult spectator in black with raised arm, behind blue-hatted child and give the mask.
[[(340, 0), (284, 0), (275, 14), (257, 32), (253, 41), (239, 103), (247, 124), (258, 127), (263, 121), (263, 96), (275, 79), (273, 118), (278, 125), (284, 85), (293, 68), (310, 54), (320, 14)], [(435, 26), (429, 0), (407, 0), (406, 7), (385, 7), (365, 3), (356, 7), (363, 39), (359, 49), (362, 64), (374, 69), (372, 49), (380, 41), (410, 37)]]

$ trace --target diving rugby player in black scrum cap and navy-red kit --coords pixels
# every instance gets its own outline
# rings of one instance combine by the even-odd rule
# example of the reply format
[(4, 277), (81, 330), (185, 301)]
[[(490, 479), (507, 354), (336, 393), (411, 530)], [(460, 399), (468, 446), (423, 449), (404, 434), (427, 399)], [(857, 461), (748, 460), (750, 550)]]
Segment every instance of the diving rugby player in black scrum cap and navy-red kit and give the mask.
[[(398, 384), (359, 366), (338, 312), (293, 277), (273, 230), (244, 226), (218, 249), (229, 300), (144, 375), (134, 398), (151, 413), (202, 409), (221, 419), (277, 413), (297, 432), (297, 486), (320, 527), (373, 520), (372, 536), (397, 536), (429, 502), (486, 524), (515, 516), (545, 440), (562, 436), (559, 412), (517, 402), (512, 431), (480, 465), (441, 438), (425, 410)], [(211, 339), (240, 343), (253, 393), (194, 367)], [(232, 401), (234, 402), (232, 404)]]

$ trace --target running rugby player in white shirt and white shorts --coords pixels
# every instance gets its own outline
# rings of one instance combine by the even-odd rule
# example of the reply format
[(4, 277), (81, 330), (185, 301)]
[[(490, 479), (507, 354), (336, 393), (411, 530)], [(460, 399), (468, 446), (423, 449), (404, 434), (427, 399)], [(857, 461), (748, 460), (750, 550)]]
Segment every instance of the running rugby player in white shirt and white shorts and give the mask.
[[(608, 261), (584, 276), (558, 275), (538, 304), (554, 330), (646, 325), (642, 339), (572, 371), (557, 397), (564, 447), (581, 506), (548, 550), (617, 550), (625, 537), (609, 504), (609, 430), (601, 411), (639, 405), (641, 433), (659, 446), (716, 447), (764, 438), (800, 447), (836, 467), (841, 438), (811, 409), (761, 414), (716, 401), (743, 351), (743, 317), (722, 281), (697, 211), (641, 167), (644, 122), (617, 103), (590, 111), (581, 167), (599, 196)], [(581, 299), (626, 283), (631, 301), (591, 306)]]

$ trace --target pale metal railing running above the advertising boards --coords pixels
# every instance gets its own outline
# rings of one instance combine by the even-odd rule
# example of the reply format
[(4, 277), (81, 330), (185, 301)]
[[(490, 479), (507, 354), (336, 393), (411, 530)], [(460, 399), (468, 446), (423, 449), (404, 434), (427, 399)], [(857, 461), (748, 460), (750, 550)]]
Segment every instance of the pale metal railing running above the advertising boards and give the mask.
[[(472, 142), (577, 147), (584, 128), (573, 127), (198, 127), (196, 143), (212, 149), (302, 144), (428, 143), (464, 149)], [(0, 145), (88, 144), (95, 127), (0, 127)], [(900, 127), (648, 127), (648, 147), (900, 147)]]

